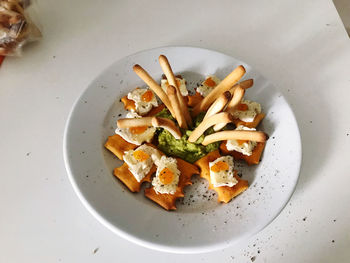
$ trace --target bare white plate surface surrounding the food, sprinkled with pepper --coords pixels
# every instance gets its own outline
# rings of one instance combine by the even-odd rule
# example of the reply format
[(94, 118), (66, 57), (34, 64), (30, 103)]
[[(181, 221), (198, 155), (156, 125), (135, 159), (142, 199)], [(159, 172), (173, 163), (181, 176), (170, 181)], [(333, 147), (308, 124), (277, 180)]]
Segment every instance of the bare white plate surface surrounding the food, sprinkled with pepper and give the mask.
[[(125, 114), (119, 99), (142, 81), (132, 71), (142, 65), (156, 80), (161, 68), (157, 58), (168, 57), (176, 74), (188, 86), (206, 75), (225, 77), (244, 65), (244, 79), (254, 86), (246, 98), (257, 100), (267, 114), (260, 129), (270, 136), (262, 162), (253, 167), (238, 163), (250, 187), (229, 204), (219, 204), (207, 182), (198, 177), (186, 188), (177, 211), (167, 212), (143, 195), (129, 192), (113, 175), (121, 165), (104, 149), (113, 135), (119, 114)], [(283, 209), (297, 183), (301, 163), (298, 125), (283, 95), (244, 62), (211, 50), (164, 47), (123, 58), (104, 70), (76, 101), (65, 130), (64, 159), (70, 181), (86, 208), (105, 226), (142, 246), (177, 253), (220, 249), (252, 236), (268, 225)]]

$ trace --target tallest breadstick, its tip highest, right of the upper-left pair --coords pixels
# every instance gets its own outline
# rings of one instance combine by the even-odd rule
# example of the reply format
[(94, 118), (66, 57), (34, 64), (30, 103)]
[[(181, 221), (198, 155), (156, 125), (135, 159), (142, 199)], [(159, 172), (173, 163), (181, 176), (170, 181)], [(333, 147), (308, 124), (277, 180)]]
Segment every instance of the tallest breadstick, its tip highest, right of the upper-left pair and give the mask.
[(192, 126), (192, 118), (191, 118), (191, 115), (188, 111), (188, 108), (187, 108), (187, 105), (186, 105), (186, 102), (184, 100), (184, 98), (182, 97), (182, 94), (181, 94), (181, 91), (180, 91), (180, 88), (177, 86), (177, 83), (176, 83), (176, 78), (174, 76), (174, 72), (173, 70), (171, 69), (171, 66), (169, 64), (169, 61), (167, 59), (166, 56), (164, 55), (160, 55), (159, 58), (159, 64), (168, 80), (168, 84), (169, 85), (172, 85), (176, 88), (176, 94), (177, 94), (177, 99), (179, 101), (179, 104), (180, 104), (180, 108), (181, 108), (181, 111), (183, 112), (183, 115), (185, 117), (185, 120), (186, 120), (186, 123), (188, 126)]

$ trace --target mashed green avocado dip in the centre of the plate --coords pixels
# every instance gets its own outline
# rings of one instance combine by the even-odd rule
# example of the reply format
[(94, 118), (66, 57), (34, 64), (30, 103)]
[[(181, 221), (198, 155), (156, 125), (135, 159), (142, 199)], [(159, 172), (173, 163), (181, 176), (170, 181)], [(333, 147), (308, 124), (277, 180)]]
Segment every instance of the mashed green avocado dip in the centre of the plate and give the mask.
[[(195, 127), (202, 122), (204, 115), (205, 113), (203, 112), (194, 119)], [(156, 116), (174, 120), (167, 109), (162, 110)], [(192, 133), (191, 130), (182, 129), (181, 132), (183, 135), (179, 140), (176, 140), (167, 130), (159, 129), (158, 132), (159, 150), (163, 151), (167, 155), (180, 157), (181, 159), (190, 163), (194, 163), (208, 153), (217, 150), (220, 145), (220, 142), (211, 143), (207, 146), (201, 144), (205, 135), (214, 132), (213, 128), (206, 130), (195, 143), (190, 143), (188, 141), (188, 137)]]

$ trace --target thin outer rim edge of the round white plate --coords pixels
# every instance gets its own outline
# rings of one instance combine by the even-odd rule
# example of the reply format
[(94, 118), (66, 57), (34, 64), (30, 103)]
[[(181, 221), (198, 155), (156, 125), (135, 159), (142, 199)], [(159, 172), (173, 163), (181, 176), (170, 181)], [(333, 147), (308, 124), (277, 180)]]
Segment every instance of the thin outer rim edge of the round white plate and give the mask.
[[(97, 219), (97, 221), (99, 221), (102, 225), (104, 225), (106, 228), (108, 228), (110, 231), (112, 231), (113, 233), (119, 235), (120, 237), (133, 242), (135, 244), (138, 244), (142, 247), (146, 247), (149, 249), (153, 249), (153, 250), (157, 250), (157, 251), (161, 251), (161, 252), (169, 252), (169, 253), (176, 253), (176, 254), (198, 254), (198, 253), (207, 253), (207, 252), (212, 252), (212, 251), (216, 251), (219, 249), (225, 249), (227, 247), (233, 246), (235, 243), (238, 242), (238, 240), (233, 241), (233, 240), (228, 240), (226, 242), (217, 242), (215, 244), (211, 244), (211, 245), (199, 245), (199, 246), (188, 246), (188, 247), (180, 247), (180, 246), (168, 246), (168, 245), (161, 245), (158, 243), (153, 243), (150, 242), (146, 239), (142, 239), (139, 237), (136, 237), (134, 235), (129, 234), (127, 231), (121, 230), (118, 227), (116, 227), (115, 225), (113, 225), (112, 223), (110, 223), (108, 220), (106, 220), (102, 215), (100, 215), (95, 208), (86, 200), (86, 198), (84, 197), (83, 193), (81, 192), (76, 180), (74, 179), (73, 176), (73, 172), (71, 170), (71, 166), (70, 166), (70, 160), (69, 160), (69, 153), (68, 153), (68, 135), (70, 132), (70, 125), (71, 125), (71, 120), (72, 120), (72, 116), (74, 114), (74, 110), (77, 107), (77, 105), (79, 104), (79, 102), (81, 101), (81, 98), (85, 95), (85, 93), (87, 92), (87, 90), (89, 89), (89, 86), (91, 83), (95, 82), (100, 75), (107, 71), (113, 64), (117, 63), (120, 60), (124, 60), (127, 59), (129, 57), (135, 56), (137, 54), (140, 53), (145, 53), (145, 52), (149, 52), (149, 51), (154, 51), (157, 49), (167, 49), (167, 48), (171, 48), (171, 49), (176, 49), (176, 48), (190, 48), (190, 49), (199, 49), (199, 50), (203, 50), (203, 51), (209, 51), (212, 53), (217, 53), (220, 55), (225, 55), (228, 57), (231, 57), (241, 63), (244, 63), (246, 65), (248, 65), (249, 67), (251, 67), (250, 64), (245, 63), (243, 61), (241, 61), (240, 59), (236, 59), (235, 57), (233, 57), (232, 55), (226, 54), (224, 52), (219, 52), (216, 50), (212, 50), (212, 49), (207, 49), (207, 48), (202, 48), (202, 47), (196, 47), (196, 46), (190, 46), (190, 45), (169, 45), (169, 46), (159, 46), (159, 47), (155, 47), (155, 48), (151, 48), (151, 49), (144, 49), (132, 54), (129, 54), (127, 56), (121, 57), (115, 61), (113, 61), (112, 63), (110, 63), (107, 67), (103, 68), (90, 82), (89, 84), (86, 86), (86, 88), (81, 92), (81, 94), (77, 97), (77, 99), (74, 101), (73, 105), (71, 106), (71, 109), (69, 111), (68, 117), (66, 119), (66, 124), (65, 124), (65, 128), (64, 128), (64, 134), (63, 134), (63, 160), (64, 160), (64, 164), (65, 164), (65, 168), (68, 174), (68, 178), (70, 183), (72, 184), (72, 187), (74, 189), (74, 192), (76, 193), (76, 195), (78, 196), (78, 199), (83, 203), (84, 207), (90, 212), (90, 214), (92, 214), (93, 217), (95, 217)], [(253, 67), (251, 67), (252, 69), (254, 69)], [(262, 77), (264, 77), (259, 71), (257, 71)], [(265, 77), (264, 77), (265, 78)], [(266, 78), (265, 78), (266, 79)], [(268, 79), (267, 79), (268, 80)], [(274, 87), (276, 87), (274, 85), (274, 83), (272, 83)], [(280, 91), (280, 90), (279, 90)], [(301, 140), (301, 134), (300, 134), (300, 129), (299, 129), (299, 124), (298, 124), (298, 120), (296, 119), (295, 113), (293, 108), (291, 107), (291, 104), (289, 103), (288, 99), (283, 96), (289, 109), (292, 112), (292, 116), (293, 116), (293, 121), (296, 123), (296, 131), (297, 131), (297, 140), (298, 140), (298, 156), (299, 156), (299, 160), (298, 160), (298, 175), (296, 177), (296, 180), (294, 182), (294, 185), (291, 188), (289, 197), (286, 199), (286, 201), (281, 205), (279, 212), (276, 213), (275, 216), (271, 217), (271, 219), (264, 224), (263, 226), (257, 228), (255, 231), (249, 232), (247, 234), (244, 234), (240, 237), (240, 241), (244, 241), (247, 240), (248, 238), (256, 235), (257, 233), (261, 232), (263, 229), (265, 229), (266, 227), (268, 227), (280, 214), (281, 212), (284, 210), (284, 208), (286, 207), (286, 205), (288, 204), (288, 202), (290, 201), (290, 199), (292, 198), (296, 186), (298, 184), (299, 178), (300, 178), (300, 170), (301, 170), (301, 166), (302, 166), (302, 140)]]

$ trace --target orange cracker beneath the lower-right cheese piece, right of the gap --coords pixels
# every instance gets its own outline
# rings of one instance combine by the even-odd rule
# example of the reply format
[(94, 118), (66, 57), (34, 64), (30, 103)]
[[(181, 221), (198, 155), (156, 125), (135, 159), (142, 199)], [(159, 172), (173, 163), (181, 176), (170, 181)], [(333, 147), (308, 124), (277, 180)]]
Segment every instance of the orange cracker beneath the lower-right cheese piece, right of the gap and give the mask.
[(209, 189), (213, 189), (218, 193), (218, 202), (228, 203), (234, 197), (244, 192), (248, 188), (248, 181), (242, 180), (237, 176), (237, 171), (235, 171), (235, 178), (238, 183), (232, 187), (229, 186), (221, 186), (214, 187), (210, 182), (210, 168), (209, 162), (215, 161), (217, 158), (221, 157), (219, 150), (215, 150), (211, 153), (208, 153), (206, 156), (202, 157), (198, 161), (195, 162), (197, 166), (199, 166), (201, 173), (200, 177), (206, 179), (209, 183)]

